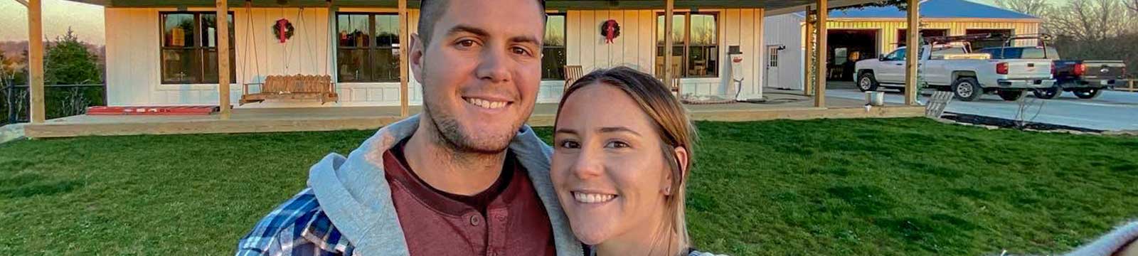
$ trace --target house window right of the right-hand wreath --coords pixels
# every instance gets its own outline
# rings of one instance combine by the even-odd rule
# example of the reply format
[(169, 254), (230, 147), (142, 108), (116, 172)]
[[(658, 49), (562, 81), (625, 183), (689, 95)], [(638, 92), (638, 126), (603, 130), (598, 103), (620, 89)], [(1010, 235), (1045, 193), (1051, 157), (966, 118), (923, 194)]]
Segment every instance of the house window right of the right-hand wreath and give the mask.
[[(673, 16), (673, 68), (681, 77), (719, 76), (719, 23), (716, 14)], [(657, 15), (657, 75), (663, 75), (663, 15)]]

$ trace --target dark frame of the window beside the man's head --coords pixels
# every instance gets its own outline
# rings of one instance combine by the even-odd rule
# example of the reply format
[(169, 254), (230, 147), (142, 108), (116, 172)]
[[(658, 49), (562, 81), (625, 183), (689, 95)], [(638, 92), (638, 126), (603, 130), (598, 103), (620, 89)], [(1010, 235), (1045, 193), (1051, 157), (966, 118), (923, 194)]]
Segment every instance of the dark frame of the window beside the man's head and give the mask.
[[(335, 71), (336, 74), (337, 74), (336, 75), (336, 82), (337, 83), (393, 83), (393, 82), (399, 82), (401, 79), (402, 79), (402, 76), (404, 76), (406, 74), (402, 74), (399, 71), (396, 71), (396, 73), (401, 73), (401, 74), (398, 74), (397, 76), (395, 76), (394, 80), (384, 80), (384, 79), (380, 79), (380, 74), (376, 69), (377, 68), (376, 67), (376, 65), (377, 65), (376, 64), (376, 56), (377, 56), (376, 52), (379, 52), (379, 51), (382, 51), (382, 50), (386, 50), (386, 51), (397, 51), (397, 50), (403, 50), (404, 49), (404, 46), (403, 46), (404, 42), (396, 43), (397, 47), (396, 47), (396, 44), (391, 44), (391, 46), (387, 46), (387, 47), (379, 46), (379, 42), (378, 42), (379, 40), (377, 40), (377, 38), (379, 36), (377, 34), (377, 32), (378, 32), (377, 28), (379, 27), (378, 22), (377, 22), (377, 17), (379, 17), (379, 16), (398, 16), (399, 14), (398, 13), (390, 13), (390, 11), (336, 11), (335, 16), (333, 16), (335, 19), (336, 19), (336, 24), (333, 24), (335, 25), (335, 30), (338, 30), (340, 27), (340, 18), (339, 17), (341, 15), (366, 15), (368, 16), (368, 40), (369, 40), (369, 42), (368, 42), (368, 46), (363, 47), (363, 48), (361, 48), (361, 47), (344, 47), (344, 46), (340, 46), (339, 33), (337, 32), (337, 33), (335, 33), (332, 35), (333, 36), (332, 41), (336, 42), (336, 52), (335, 53), (337, 56), (336, 71)], [(397, 30), (402, 30), (398, 26), (396, 26), (396, 28)], [(405, 33), (405, 32), (398, 32), (397, 31), (397, 33)], [(398, 38), (396, 38), (396, 41), (398, 41)], [(364, 79), (364, 80), (354, 80), (354, 81), (344, 81), (344, 76), (339, 75), (340, 74), (339, 56), (340, 56), (340, 51), (341, 50), (364, 50), (364, 55), (365, 55), (364, 63), (363, 63), (363, 66), (360, 67), (360, 69), (368, 73), (366, 74), (368, 79)], [(398, 56), (398, 55), (396, 55), (396, 56)]]

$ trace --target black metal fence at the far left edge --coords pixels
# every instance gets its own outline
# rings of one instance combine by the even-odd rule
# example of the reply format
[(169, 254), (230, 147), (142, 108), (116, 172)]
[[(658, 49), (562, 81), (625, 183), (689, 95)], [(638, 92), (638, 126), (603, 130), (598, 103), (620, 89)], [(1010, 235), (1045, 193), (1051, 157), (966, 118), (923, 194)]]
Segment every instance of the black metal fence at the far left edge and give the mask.
[[(47, 118), (58, 118), (65, 116), (86, 114), (86, 108), (91, 106), (106, 106), (107, 91), (104, 84), (49, 84), (43, 85), (43, 106)], [(31, 98), (28, 97), (26, 84), (13, 84), (10, 82), (0, 84), (0, 96), (3, 106), (0, 106), (0, 125), (26, 123), (31, 109)]]

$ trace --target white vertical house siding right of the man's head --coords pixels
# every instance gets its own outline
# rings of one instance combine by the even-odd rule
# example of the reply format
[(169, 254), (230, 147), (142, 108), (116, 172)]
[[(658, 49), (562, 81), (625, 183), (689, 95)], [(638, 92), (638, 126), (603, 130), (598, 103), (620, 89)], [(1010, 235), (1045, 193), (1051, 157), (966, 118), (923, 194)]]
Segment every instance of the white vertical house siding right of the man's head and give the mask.
[[(727, 50), (739, 46), (743, 52), (743, 84), (740, 98), (762, 96), (761, 64), (762, 9), (700, 9), (700, 13), (718, 14), (719, 76), (682, 79), (684, 93), (724, 96), (731, 77)], [(599, 68), (628, 66), (645, 73), (653, 73), (657, 65), (657, 15), (663, 10), (569, 10), (567, 23), (567, 65), (580, 65), (585, 73)], [(682, 11), (676, 11), (682, 14)], [(620, 36), (607, 43), (600, 27), (605, 20), (620, 24)], [(683, 42), (677, 42), (683, 43)], [(679, 72), (679, 71), (676, 71)], [(545, 88), (543, 88), (545, 89)], [(550, 90), (560, 97), (560, 91)], [(733, 97), (733, 96), (732, 96)]]

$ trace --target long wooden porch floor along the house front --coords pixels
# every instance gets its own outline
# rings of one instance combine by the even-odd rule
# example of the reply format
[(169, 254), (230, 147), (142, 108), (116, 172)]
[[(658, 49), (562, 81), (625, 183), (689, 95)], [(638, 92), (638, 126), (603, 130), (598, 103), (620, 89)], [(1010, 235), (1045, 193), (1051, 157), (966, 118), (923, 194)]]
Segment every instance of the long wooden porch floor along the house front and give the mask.
[[(768, 93), (770, 101), (781, 104), (686, 105), (696, 121), (765, 121), (810, 118), (913, 117), (924, 114), (923, 107), (885, 106), (866, 112), (863, 101), (827, 97), (828, 108), (815, 108), (809, 98)], [(768, 101), (769, 102), (769, 101)], [(411, 113), (421, 112), (412, 107)], [(555, 104), (538, 104), (530, 125), (552, 125)], [(325, 108), (237, 108), (228, 121), (209, 116), (71, 116), (24, 125), (27, 138), (67, 138), (85, 135), (198, 134), (312, 132), (338, 130), (374, 130), (399, 121), (399, 107), (325, 107)]]

